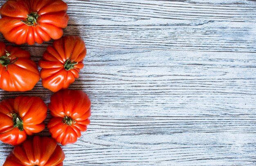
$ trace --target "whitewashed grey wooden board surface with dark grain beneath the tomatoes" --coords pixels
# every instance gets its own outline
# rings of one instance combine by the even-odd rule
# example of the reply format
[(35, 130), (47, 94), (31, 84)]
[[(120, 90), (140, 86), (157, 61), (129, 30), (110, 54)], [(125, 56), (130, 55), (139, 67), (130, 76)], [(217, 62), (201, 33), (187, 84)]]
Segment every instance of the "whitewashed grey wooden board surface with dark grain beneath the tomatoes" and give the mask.
[[(65, 166), (256, 165), (254, 0), (64, 1), (65, 35), (88, 48), (70, 88), (92, 101)], [(49, 44), (21, 47), (38, 61)], [(48, 104), (52, 92), (0, 99), (21, 94)], [(12, 149), (0, 143), (0, 164)]]

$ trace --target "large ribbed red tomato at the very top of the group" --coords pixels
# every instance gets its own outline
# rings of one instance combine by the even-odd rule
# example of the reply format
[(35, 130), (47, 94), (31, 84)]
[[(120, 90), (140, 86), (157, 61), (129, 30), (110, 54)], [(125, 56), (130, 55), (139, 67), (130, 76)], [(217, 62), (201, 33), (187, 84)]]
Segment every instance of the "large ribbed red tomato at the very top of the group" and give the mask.
[(0, 9), (0, 32), (16, 44), (59, 39), (69, 20), (66, 12), (62, 0), (8, 0)]

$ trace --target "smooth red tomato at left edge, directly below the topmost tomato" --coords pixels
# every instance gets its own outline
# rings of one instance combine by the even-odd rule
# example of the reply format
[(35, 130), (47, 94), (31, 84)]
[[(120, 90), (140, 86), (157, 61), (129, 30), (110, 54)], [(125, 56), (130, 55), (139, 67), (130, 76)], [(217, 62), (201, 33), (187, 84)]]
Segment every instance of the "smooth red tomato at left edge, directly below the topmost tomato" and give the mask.
[(0, 42), (0, 88), (6, 91), (28, 91), (40, 79), (37, 65), (29, 52)]

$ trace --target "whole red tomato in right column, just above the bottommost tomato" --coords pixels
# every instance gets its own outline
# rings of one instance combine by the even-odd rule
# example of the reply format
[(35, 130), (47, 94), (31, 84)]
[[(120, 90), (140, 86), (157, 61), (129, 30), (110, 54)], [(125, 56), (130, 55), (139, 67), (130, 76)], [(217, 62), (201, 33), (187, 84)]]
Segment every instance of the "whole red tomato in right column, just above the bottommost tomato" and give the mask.
[(91, 102), (81, 90), (62, 90), (51, 97), (48, 105), (53, 118), (47, 128), (57, 142), (72, 144), (90, 124)]

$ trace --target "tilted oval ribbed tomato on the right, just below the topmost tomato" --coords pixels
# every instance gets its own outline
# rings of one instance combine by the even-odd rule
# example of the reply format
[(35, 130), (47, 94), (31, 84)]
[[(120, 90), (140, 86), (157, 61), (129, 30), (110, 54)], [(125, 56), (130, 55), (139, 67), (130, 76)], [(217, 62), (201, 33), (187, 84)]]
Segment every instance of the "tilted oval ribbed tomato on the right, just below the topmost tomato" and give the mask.
[(57, 92), (67, 89), (83, 68), (85, 43), (79, 36), (65, 36), (48, 46), (38, 64), (43, 87)]

